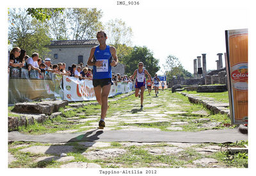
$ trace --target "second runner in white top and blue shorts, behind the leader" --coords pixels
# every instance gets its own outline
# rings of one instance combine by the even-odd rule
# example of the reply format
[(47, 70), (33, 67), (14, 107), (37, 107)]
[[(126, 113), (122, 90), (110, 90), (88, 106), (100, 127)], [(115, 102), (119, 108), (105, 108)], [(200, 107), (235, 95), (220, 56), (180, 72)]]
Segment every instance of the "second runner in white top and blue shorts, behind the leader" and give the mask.
[(147, 76), (149, 77), (148, 79), (150, 80), (151, 80), (151, 76), (148, 73), (148, 71), (145, 68), (143, 68), (143, 62), (140, 62), (138, 66), (139, 68), (134, 71), (134, 73), (131, 76), (131, 79), (133, 79), (133, 77), (136, 75), (135, 97), (139, 96), (139, 91), (140, 91), (140, 107), (143, 108), (143, 99), (144, 99), (143, 93), (145, 90), (145, 82), (146, 82), (145, 75), (147, 74)]

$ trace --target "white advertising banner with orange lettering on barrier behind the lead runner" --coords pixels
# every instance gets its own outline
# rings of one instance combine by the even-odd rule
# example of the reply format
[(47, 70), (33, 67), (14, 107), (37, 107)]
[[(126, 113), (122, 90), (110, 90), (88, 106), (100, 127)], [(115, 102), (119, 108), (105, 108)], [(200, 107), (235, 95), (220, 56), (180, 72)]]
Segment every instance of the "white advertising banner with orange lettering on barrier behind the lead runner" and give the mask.
[[(114, 83), (109, 97), (132, 91), (132, 83)], [(63, 97), (68, 101), (96, 100), (92, 80), (79, 80), (76, 77), (63, 76)]]

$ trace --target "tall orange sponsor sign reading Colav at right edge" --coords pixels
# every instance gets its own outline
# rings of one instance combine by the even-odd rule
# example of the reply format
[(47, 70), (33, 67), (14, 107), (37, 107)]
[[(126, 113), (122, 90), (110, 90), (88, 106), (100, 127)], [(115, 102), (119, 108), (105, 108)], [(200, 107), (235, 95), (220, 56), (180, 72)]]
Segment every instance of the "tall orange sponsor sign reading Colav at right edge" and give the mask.
[(225, 31), (230, 119), (248, 124), (248, 29)]

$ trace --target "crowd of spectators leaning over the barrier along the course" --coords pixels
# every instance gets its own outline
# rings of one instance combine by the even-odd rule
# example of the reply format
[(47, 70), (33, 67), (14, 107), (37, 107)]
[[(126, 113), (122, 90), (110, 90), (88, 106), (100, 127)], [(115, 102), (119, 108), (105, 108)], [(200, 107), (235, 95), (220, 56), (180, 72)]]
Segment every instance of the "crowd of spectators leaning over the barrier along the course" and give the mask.
[[(84, 66), (83, 63), (72, 64), (72, 66), (68, 67), (68, 70), (66, 70), (66, 63), (52, 65), (51, 58), (45, 58), (42, 60), (42, 58), (39, 58), (39, 54), (37, 52), (34, 52), (31, 57), (29, 57), (26, 55), (26, 51), (24, 49), (20, 49), (19, 47), (14, 47), (10, 52), (9, 66), (26, 68), (28, 71), (37, 70), (40, 75), (42, 75), (44, 72), (52, 72), (54, 74), (77, 77), (80, 80), (92, 80), (93, 77), (92, 68), (89, 68), (88, 65)], [(127, 75), (121, 76), (119, 73), (112, 74), (112, 81), (116, 84), (118, 82), (128, 82), (129, 78), (130, 77), (127, 77)]]

